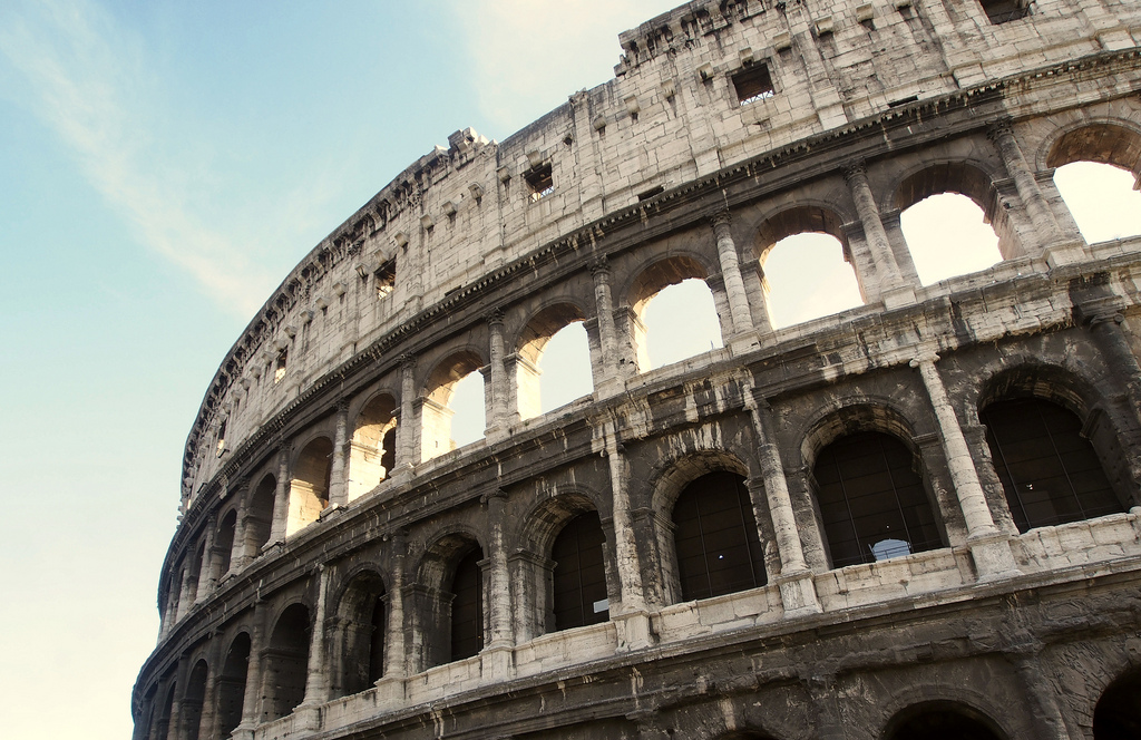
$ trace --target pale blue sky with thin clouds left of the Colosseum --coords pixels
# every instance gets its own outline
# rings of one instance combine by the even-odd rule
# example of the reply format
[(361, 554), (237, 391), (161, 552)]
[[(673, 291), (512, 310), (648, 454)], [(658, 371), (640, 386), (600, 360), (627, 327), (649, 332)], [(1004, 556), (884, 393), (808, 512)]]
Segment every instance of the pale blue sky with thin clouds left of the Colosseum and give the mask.
[(607, 80), (673, 5), (0, 6), (6, 739), (129, 737), (186, 433), (289, 270), (452, 131)]

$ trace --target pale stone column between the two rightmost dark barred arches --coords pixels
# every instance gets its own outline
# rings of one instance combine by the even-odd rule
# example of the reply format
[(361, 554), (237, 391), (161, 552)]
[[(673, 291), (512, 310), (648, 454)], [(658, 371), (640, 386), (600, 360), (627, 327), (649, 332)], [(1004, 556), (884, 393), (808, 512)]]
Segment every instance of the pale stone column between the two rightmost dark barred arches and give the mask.
[(939, 355), (924, 352), (912, 360), (911, 365), (919, 368), (923, 377), (923, 386), (931, 399), (931, 408), (939, 423), (939, 439), (942, 440), (944, 455), (947, 456), (947, 467), (955, 485), (958, 507), (966, 523), (966, 545), (971, 549), (980, 580), (1006, 578), (1019, 573), (1014, 555), (1010, 549), (1010, 539), (995, 526), (990, 508), (987, 506), (979, 474), (974, 469), (974, 460), (966, 447), (963, 429), (958, 426), (958, 417), (950, 405), (947, 388), (934, 363)]

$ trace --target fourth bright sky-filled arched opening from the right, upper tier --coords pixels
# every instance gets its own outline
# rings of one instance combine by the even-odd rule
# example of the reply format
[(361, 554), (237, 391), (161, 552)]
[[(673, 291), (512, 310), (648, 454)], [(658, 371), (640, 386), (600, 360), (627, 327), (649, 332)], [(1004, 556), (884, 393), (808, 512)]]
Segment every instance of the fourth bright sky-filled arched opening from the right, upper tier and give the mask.
[(634, 281), (629, 331), (639, 372), (723, 346), (721, 320), (705, 278), (696, 260), (671, 257), (650, 265)]

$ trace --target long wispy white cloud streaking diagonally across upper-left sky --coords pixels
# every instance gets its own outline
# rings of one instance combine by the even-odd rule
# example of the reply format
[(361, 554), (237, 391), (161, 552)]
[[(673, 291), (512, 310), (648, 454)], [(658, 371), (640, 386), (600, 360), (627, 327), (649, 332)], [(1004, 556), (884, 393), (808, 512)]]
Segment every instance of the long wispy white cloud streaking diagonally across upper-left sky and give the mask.
[[(74, 153), (83, 175), (139, 240), (201, 283), (224, 307), (249, 315), (272, 287), (233, 238), (187, 206), (191, 162), (155, 139), (161, 85), (145, 46), (84, 0), (27, 3), (0, 14), (0, 55), (16, 72), (11, 95)], [(183, 158), (189, 155), (183, 151)]]

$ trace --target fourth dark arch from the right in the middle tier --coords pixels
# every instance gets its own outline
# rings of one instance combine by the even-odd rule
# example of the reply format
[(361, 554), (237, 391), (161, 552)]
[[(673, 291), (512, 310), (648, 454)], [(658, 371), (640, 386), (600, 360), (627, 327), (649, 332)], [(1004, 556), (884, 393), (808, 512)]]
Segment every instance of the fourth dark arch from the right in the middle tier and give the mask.
[[(582, 520), (581, 517), (588, 517)], [(565, 618), (559, 619), (561, 613), (557, 586), (566, 579), (573, 579), (573, 572), (568, 568), (582, 565), (581, 557), (574, 563), (560, 563), (556, 557), (555, 548), (559, 545), (560, 538), (567, 533), (567, 528), (578, 522), (576, 526), (583, 529), (589, 536), (594, 533), (594, 541), (589, 541), (590, 555), (588, 557), (588, 576), (590, 577), (586, 590), (601, 592), (596, 594), (598, 598), (591, 598), (591, 603), (608, 600), (609, 595), (617, 593), (616, 573), (610, 564), (609, 553), (613, 552), (614, 532), (607, 517), (604, 523), (599, 513), (596, 494), (581, 486), (563, 486), (556, 490), (555, 494), (534, 505), (523, 517), (519, 541), (526, 544), (526, 549), (518, 552), (510, 561), (513, 572), (513, 580), (521, 582), (520, 594), (517, 598), (518, 627), (516, 638), (525, 642), (537, 635), (564, 629), (569, 626), (582, 626), (605, 621), (605, 618), (596, 618), (601, 611), (584, 612), (584, 618), (578, 624), (569, 624)], [(594, 529), (597, 526), (597, 530)], [(577, 532), (577, 530), (576, 530)], [(597, 548), (597, 549), (596, 549)], [(601, 569), (596, 572), (596, 569)], [(582, 572), (581, 568), (575, 572)], [(600, 580), (599, 578), (600, 577)], [(597, 588), (601, 586), (601, 588)], [(609, 606), (606, 608), (608, 617)], [(573, 620), (572, 620), (573, 621)], [(561, 622), (561, 624), (560, 624)]]

